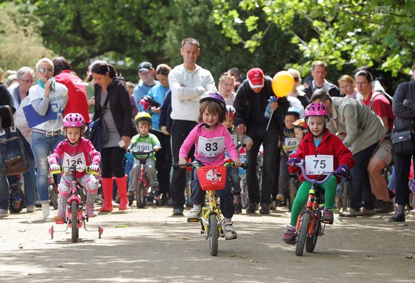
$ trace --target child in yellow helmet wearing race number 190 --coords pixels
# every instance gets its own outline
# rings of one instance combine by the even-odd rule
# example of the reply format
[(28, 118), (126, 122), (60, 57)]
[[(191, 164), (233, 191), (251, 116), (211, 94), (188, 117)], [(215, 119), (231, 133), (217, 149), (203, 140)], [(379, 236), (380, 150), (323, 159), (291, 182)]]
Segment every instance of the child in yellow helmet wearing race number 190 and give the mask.
[[(131, 139), (130, 148), (138, 151), (158, 151), (161, 148), (160, 141), (151, 130), (151, 115), (147, 112), (139, 112), (134, 118), (138, 127), (138, 133)], [(145, 157), (145, 156), (143, 156)], [(130, 171), (130, 181), (128, 184), (128, 198), (134, 198), (134, 192), (137, 189), (137, 181), (140, 178), (141, 164), (139, 159), (134, 159), (134, 164)], [(145, 172), (150, 181), (152, 191), (155, 193), (156, 204), (160, 205), (160, 190), (157, 181), (157, 170), (155, 169), (154, 152), (146, 160)]]

